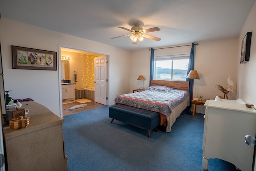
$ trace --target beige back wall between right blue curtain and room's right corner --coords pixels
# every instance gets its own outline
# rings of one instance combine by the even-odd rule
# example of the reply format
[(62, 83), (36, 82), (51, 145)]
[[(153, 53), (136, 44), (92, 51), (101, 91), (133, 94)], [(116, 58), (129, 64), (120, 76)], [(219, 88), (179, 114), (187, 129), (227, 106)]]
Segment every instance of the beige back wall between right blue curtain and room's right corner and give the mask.
[[(230, 76), (236, 89), (236, 49), (237, 39), (226, 39), (209, 42), (199, 42), (195, 53), (195, 70), (198, 70), (200, 80), (194, 81), (194, 97), (203, 96), (214, 99), (216, 95), (224, 96), (219, 91), (213, 91), (215, 85), (228, 89), (227, 79)], [(229, 99), (236, 99), (236, 93), (228, 93)]]

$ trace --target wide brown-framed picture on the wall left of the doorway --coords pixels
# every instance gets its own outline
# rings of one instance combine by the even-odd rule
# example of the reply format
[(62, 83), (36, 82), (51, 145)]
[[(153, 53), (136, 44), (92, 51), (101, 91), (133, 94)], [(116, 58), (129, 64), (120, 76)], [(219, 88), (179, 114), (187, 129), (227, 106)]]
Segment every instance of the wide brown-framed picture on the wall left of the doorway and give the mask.
[(12, 46), (12, 69), (57, 70), (57, 52)]

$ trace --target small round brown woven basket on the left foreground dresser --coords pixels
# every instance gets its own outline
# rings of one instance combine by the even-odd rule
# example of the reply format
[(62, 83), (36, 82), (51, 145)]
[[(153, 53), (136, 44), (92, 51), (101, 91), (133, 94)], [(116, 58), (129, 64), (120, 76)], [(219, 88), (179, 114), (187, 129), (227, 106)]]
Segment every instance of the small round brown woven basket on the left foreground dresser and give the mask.
[(12, 129), (21, 129), (27, 127), (30, 123), (30, 117), (19, 116), (9, 121), (9, 126)]

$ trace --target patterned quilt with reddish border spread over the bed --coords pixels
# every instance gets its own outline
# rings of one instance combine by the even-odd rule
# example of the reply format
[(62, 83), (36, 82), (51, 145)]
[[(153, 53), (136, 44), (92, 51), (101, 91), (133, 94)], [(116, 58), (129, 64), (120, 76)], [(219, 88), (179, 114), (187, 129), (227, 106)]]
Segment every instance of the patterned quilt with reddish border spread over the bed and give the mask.
[(152, 85), (145, 91), (118, 95), (115, 102), (116, 104), (130, 105), (169, 116), (172, 109), (182, 103), (188, 96), (189, 92), (185, 90)]

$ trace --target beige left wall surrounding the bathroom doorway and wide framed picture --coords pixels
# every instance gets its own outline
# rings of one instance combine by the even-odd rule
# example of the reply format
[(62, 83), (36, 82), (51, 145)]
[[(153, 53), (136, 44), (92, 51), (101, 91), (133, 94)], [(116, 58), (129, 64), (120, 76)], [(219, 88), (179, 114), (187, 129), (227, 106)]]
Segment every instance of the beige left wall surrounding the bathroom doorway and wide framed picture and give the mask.
[(61, 115), (59, 66), (57, 71), (12, 69), (12, 45), (57, 52), (58, 62), (60, 61), (58, 52), (60, 44), (84, 51), (109, 54), (108, 105), (114, 104), (116, 95), (130, 90), (129, 82), (124, 80), (130, 78), (131, 52), (127, 50), (7, 18), (0, 20), (0, 38), (4, 88), (14, 90), (11, 95), (16, 99), (31, 98), (56, 115)]

